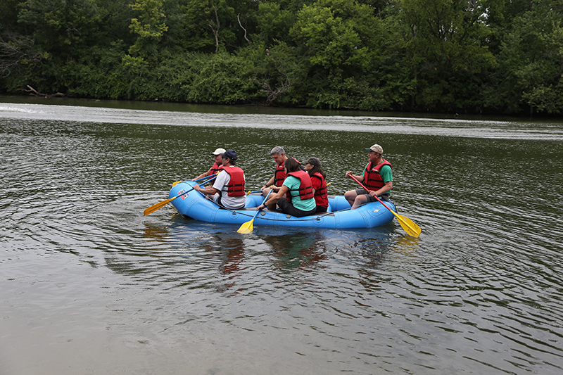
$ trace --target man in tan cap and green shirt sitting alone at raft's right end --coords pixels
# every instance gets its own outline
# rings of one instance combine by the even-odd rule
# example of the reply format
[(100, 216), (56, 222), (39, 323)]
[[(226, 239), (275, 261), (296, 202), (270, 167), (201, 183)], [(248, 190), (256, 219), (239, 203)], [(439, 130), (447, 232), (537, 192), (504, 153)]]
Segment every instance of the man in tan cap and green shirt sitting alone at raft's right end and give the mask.
[(346, 177), (353, 176), (362, 182), (368, 189), (349, 190), (344, 193), (344, 198), (350, 203), (352, 209), (359, 205), (377, 201), (375, 196), (381, 201), (389, 201), (389, 193), (393, 189), (393, 168), (391, 163), (383, 158), (383, 148), (379, 144), (374, 144), (366, 148), (369, 163), (364, 168), (361, 176), (356, 176), (352, 172), (346, 172)]

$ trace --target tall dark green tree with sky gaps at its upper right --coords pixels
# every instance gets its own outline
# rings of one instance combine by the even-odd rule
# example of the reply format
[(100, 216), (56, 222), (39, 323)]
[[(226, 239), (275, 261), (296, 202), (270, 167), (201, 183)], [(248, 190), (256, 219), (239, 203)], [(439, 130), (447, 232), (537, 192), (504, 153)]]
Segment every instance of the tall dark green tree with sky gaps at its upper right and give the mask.
[(455, 87), (495, 65), (486, 45), (487, 11), (483, 0), (400, 0), (395, 40), (410, 71), (405, 82), (414, 88), (413, 106), (457, 109)]

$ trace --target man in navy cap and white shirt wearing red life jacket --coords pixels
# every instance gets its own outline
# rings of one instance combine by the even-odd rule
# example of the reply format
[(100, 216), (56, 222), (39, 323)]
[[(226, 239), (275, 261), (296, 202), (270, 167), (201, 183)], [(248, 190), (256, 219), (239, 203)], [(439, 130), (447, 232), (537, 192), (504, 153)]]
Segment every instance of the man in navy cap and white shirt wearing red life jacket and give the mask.
[(213, 197), (213, 201), (229, 210), (239, 210), (246, 204), (246, 193), (244, 192), (244, 172), (236, 166), (236, 152), (227, 150), (220, 154), (223, 169), (217, 174), (213, 186), (201, 189), (199, 185), (194, 190), (201, 191)]

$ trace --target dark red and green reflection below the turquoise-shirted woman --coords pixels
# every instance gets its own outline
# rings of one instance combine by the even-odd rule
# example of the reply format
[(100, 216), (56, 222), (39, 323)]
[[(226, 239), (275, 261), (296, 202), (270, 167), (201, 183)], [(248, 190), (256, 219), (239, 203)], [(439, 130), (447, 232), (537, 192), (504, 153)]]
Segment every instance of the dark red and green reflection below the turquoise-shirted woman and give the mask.
[(319, 232), (262, 236), (277, 257), (274, 265), (282, 270), (310, 269), (326, 258), (326, 237)]

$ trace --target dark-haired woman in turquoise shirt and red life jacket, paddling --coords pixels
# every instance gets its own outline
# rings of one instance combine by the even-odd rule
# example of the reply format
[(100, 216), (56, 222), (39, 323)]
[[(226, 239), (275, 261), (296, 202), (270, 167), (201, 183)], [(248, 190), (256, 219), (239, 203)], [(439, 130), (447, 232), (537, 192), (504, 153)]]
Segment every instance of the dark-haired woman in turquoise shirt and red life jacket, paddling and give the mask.
[(312, 193), (312, 184), (309, 174), (301, 169), (301, 164), (293, 158), (287, 158), (284, 162), (286, 179), (265, 204), (259, 205), (258, 210), (265, 206), (277, 203), (279, 208), (286, 214), (296, 217), (315, 215), (317, 204)]

